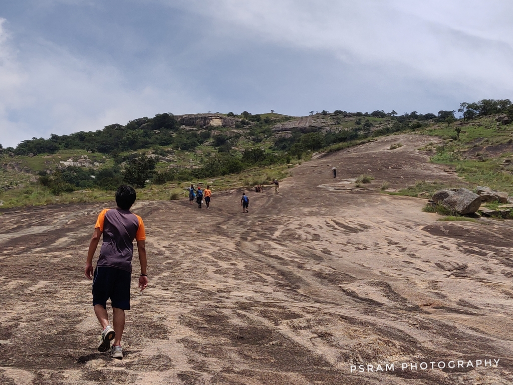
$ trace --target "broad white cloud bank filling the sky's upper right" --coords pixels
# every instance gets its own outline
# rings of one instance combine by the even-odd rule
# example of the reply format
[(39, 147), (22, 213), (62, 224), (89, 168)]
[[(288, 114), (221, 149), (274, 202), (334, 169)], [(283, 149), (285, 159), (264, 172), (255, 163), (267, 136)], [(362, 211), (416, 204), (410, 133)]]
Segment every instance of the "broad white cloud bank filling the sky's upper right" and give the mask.
[[(340, 61), (379, 65), (390, 76), (449, 82), (473, 93), (513, 90), (513, 3), (260, 0), (182, 3), (215, 18), (218, 33)], [(233, 37), (236, 36), (236, 37)], [(482, 95), (492, 97), (492, 95)]]

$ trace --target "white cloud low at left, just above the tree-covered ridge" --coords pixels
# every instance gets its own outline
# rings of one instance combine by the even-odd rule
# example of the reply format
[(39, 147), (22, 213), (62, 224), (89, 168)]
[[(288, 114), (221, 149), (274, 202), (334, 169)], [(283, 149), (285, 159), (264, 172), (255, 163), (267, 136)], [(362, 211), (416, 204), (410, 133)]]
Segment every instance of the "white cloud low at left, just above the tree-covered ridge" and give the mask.
[(0, 23), (0, 143), (50, 133), (102, 129), (161, 112), (192, 111), (194, 102), (168, 73), (170, 89), (133, 86), (110, 64), (72, 55), (42, 38), (16, 50)]

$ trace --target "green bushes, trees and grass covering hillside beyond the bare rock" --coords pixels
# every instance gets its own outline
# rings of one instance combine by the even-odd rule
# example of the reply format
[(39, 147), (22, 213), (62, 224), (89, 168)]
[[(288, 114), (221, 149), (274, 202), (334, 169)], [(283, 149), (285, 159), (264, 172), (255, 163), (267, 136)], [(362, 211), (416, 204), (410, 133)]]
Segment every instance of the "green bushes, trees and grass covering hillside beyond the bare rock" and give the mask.
[[(229, 112), (182, 117), (162, 113), (94, 132), (32, 138), (16, 148), (4, 149), (0, 144), (0, 191), (22, 185), (25, 189), (34, 188), (37, 194), (46, 191), (45, 194), (64, 196), (73, 191), (97, 190), (103, 196), (101, 191), (115, 189), (123, 182), (146, 189), (178, 186), (241, 172), (286, 168), (309, 159), (315, 151), (336, 151), (396, 132), (419, 132), (448, 139), (447, 145), (433, 148), (434, 162), (454, 166), (468, 181), (508, 190), (506, 185), (513, 182), (511, 172), (504, 170), (501, 163), (507, 153), (497, 158), (487, 157), (484, 151), (473, 159), (465, 151), (470, 146), (511, 143), (511, 102), (463, 102), (458, 110), (462, 118), (457, 119), (455, 112), (412, 111), (398, 115), (396, 111), (383, 110), (323, 110), (316, 114), (310, 111), (306, 118), (247, 111), (240, 115)], [(501, 116), (500, 122), (494, 120), (496, 115)], [(226, 122), (221, 126), (204, 124), (212, 116)], [(28, 187), (34, 180), (38, 185)], [(35, 194), (34, 191), (28, 195)], [(5, 201), (1, 194), (6, 193), (0, 192), (0, 200)]]

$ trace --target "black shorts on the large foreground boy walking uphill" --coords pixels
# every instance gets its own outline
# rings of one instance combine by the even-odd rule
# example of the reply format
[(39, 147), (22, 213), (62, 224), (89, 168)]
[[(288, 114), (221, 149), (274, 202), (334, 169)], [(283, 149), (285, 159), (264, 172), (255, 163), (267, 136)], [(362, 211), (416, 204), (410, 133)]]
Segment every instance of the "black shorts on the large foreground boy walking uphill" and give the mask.
[(93, 276), (93, 306), (107, 307), (110, 298), (112, 307), (130, 310), (131, 273), (121, 268), (96, 266)]

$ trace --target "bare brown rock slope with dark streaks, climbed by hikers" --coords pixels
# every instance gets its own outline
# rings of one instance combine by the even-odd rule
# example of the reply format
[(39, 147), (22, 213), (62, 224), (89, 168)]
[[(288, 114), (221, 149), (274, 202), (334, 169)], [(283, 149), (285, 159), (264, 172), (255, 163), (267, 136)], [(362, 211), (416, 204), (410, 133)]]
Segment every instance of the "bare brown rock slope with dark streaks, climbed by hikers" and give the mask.
[[(512, 383), (510, 222), (437, 222), (423, 200), (341, 188), (363, 173), (376, 189), (455, 181), (416, 151), (430, 141), (397, 136), (306, 162), (281, 194), (248, 192), (249, 214), (242, 191), (214, 191), (208, 210), (138, 202), (150, 285), (137, 292), (135, 256), (122, 361), (95, 351), (83, 276), (104, 205), (4, 211), (0, 383)], [(464, 367), (437, 368), (451, 360)]]

